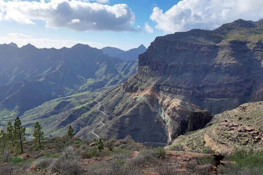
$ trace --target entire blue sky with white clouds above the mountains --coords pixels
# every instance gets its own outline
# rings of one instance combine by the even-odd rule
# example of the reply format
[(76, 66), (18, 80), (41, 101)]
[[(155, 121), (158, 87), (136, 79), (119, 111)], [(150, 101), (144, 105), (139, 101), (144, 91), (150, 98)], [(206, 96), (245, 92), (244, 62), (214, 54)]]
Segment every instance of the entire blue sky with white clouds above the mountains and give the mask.
[(262, 0), (0, 0), (0, 43), (123, 50), (192, 28), (263, 18)]

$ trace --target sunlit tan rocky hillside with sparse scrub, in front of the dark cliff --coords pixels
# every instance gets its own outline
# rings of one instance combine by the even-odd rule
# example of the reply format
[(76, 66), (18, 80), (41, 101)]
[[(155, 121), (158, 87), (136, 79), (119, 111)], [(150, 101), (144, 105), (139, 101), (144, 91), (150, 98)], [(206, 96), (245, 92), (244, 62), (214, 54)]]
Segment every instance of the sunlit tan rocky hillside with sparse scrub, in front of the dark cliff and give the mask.
[(174, 145), (186, 150), (233, 152), (235, 149), (263, 149), (263, 102), (245, 103), (215, 115), (206, 128), (179, 136)]

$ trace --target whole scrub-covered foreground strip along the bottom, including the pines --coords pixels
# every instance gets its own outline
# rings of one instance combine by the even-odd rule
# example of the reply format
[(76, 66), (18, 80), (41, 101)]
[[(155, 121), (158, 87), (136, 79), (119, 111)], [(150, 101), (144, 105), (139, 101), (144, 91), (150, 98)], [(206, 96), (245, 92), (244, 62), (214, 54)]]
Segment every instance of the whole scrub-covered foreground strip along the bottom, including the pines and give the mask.
[[(21, 130), (20, 135), (18, 129)], [(25, 141), (25, 129), (21, 127), (17, 118), (16, 128), (9, 122), (7, 132), (1, 131), (1, 175), (263, 173), (263, 152), (255, 150), (236, 150), (226, 154), (226, 161), (217, 166), (214, 152), (208, 148), (185, 152), (181, 145), (170, 145), (167, 147), (169, 152), (161, 147), (151, 148), (136, 143), (129, 135), (122, 140), (99, 138), (82, 141), (73, 137), (74, 130), (70, 126), (69, 134), (65, 137), (43, 138), (41, 129), (36, 123), (34, 139)], [(21, 148), (25, 154), (22, 154)]]

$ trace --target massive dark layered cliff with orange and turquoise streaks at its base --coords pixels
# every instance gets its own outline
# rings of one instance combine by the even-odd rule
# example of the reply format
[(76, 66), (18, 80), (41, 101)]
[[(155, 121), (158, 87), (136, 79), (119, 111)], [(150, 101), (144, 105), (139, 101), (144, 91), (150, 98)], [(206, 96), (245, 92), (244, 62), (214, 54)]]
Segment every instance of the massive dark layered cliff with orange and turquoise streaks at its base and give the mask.
[(237, 20), (213, 31), (157, 37), (139, 55), (138, 72), (102, 95), (106, 125), (84, 126), (77, 135), (93, 137), (87, 133), (96, 128), (101, 136), (170, 142), (182, 133), (189, 112), (216, 114), (262, 100), (262, 24)]

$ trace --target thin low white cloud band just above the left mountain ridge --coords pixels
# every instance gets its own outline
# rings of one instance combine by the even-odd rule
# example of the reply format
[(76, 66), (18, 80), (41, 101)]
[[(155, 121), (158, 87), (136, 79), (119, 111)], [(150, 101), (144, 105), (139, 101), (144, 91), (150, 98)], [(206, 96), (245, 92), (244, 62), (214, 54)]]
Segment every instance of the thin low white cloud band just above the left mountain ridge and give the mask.
[(0, 44), (14, 42), (19, 47), (24, 46), (28, 43), (36, 46), (37, 48), (48, 48), (54, 47), (60, 49), (62, 47), (72, 47), (75, 44), (88, 44), (91, 47), (102, 48), (105, 47), (105, 43), (96, 42), (83, 42), (83, 41), (72, 41), (72, 40), (60, 40), (51, 38), (35, 38), (33, 36), (25, 35), (22, 33), (8, 33), (6, 36), (0, 36)]

